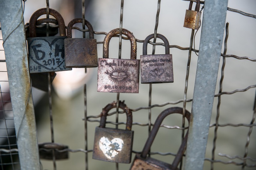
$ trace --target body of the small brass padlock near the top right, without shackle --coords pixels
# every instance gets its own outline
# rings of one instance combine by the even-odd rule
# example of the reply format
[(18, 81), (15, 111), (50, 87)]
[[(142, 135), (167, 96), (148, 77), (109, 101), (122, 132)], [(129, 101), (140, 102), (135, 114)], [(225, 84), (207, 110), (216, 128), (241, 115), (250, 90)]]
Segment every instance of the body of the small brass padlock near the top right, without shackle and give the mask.
[(186, 10), (183, 27), (198, 30), (200, 26), (201, 12)]

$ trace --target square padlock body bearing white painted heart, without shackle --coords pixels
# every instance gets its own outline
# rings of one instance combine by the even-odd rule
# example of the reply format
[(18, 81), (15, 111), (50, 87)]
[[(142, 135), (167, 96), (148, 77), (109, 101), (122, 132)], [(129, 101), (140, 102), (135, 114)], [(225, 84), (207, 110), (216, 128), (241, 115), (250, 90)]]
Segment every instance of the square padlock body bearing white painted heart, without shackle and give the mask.
[(95, 129), (93, 159), (116, 163), (130, 163), (133, 148), (133, 130)]

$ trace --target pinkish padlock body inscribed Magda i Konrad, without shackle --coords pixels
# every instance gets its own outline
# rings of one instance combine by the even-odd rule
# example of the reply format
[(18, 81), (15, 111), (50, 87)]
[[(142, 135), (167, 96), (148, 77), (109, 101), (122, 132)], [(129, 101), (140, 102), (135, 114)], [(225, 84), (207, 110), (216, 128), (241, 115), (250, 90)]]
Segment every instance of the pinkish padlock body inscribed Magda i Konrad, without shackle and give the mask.
[(98, 92), (139, 93), (137, 59), (99, 58)]

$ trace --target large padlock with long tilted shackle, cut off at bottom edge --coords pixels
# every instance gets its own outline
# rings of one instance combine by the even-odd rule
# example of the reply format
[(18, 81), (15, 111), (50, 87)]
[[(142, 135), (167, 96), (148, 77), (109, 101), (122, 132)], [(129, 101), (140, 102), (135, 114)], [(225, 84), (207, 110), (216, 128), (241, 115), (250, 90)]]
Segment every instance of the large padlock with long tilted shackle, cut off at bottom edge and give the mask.
[[(155, 139), (155, 136), (157, 134), (157, 131), (160, 128), (161, 123), (163, 122), (163, 119), (173, 113), (183, 113), (183, 109), (181, 107), (170, 107), (163, 112), (159, 114), (157, 117), (154, 126), (148, 136), (147, 142), (145, 143), (145, 146), (143, 148), (143, 151), (141, 154), (136, 154), (136, 157), (134, 158), (133, 165), (131, 166), (131, 170), (145, 170), (145, 169), (150, 169), (150, 170), (177, 170), (178, 164), (181, 161), (181, 158), (183, 157), (183, 154), (186, 149), (187, 145), (187, 136), (188, 136), (188, 131), (182, 140), (181, 146), (178, 150), (178, 153), (175, 156), (175, 159), (173, 160), (172, 164), (168, 164), (159, 160), (156, 160), (151, 157), (147, 157), (147, 154), (151, 148), (151, 145)], [(190, 120), (190, 113), (189, 111), (185, 111), (185, 117), (187, 118), (188, 122)]]

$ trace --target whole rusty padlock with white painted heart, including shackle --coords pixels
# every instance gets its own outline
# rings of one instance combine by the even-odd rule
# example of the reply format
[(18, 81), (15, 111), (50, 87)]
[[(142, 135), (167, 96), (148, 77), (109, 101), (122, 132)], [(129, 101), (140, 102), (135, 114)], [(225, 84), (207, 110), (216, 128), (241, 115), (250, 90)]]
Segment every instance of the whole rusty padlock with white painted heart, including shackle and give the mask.
[(127, 116), (126, 129), (105, 128), (108, 111), (117, 107), (117, 102), (105, 106), (101, 112), (100, 125), (95, 129), (93, 159), (116, 163), (130, 163), (133, 148), (132, 111), (119, 101), (119, 108)]

